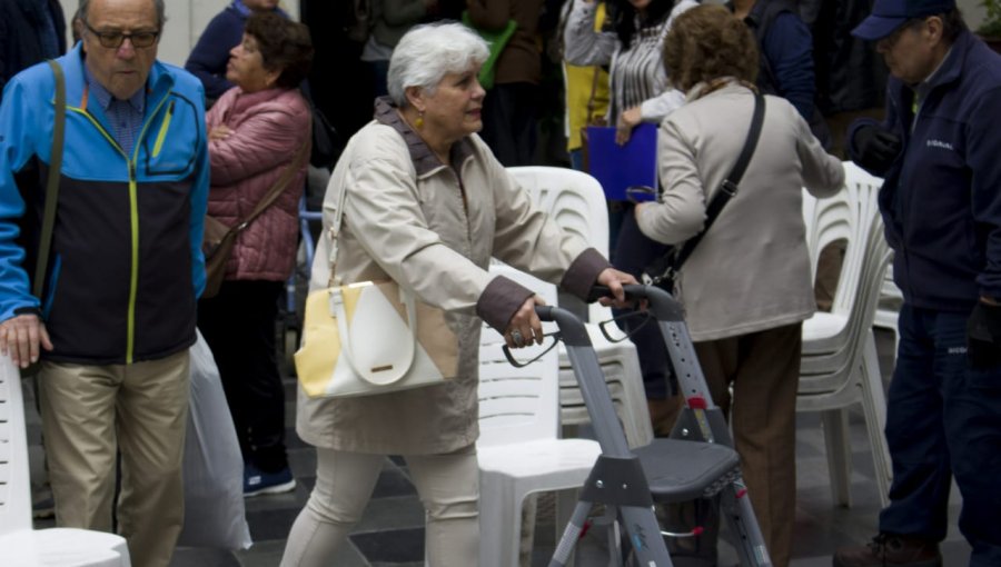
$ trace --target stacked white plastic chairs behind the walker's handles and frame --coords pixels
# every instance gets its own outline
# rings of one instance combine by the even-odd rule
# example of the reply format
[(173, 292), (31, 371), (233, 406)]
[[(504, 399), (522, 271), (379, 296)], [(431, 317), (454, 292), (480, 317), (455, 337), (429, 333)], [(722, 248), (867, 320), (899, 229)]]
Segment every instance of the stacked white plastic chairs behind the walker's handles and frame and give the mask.
[[(608, 212), (605, 208), (605, 193), (595, 178), (582, 171), (556, 167), (514, 167), (507, 170), (561, 228), (579, 236), (595, 250), (608, 257)], [(573, 310), (566, 305), (561, 307)], [(611, 318), (611, 309), (592, 304), (587, 308), (587, 319), (591, 321), (587, 330), (630, 446), (642, 447), (653, 440), (653, 427), (640, 372), (640, 359), (632, 342), (611, 342), (594, 325)], [(566, 348), (562, 344), (559, 404), (564, 426), (591, 422)]]

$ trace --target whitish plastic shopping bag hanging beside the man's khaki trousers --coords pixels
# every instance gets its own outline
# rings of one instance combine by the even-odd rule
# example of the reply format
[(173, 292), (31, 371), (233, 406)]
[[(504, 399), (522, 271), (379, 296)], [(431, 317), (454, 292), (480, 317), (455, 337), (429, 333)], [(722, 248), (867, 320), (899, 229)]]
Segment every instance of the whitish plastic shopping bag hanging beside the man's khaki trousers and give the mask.
[(185, 527), (179, 546), (247, 549), (244, 458), (219, 369), (198, 334), (191, 347), (191, 398), (185, 441)]

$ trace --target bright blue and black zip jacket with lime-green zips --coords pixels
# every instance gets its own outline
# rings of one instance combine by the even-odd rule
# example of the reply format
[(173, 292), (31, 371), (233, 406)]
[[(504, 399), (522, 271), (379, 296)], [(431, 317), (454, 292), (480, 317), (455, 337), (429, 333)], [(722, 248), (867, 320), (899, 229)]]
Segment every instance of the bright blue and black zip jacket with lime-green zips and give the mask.
[[(19, 73), (0, 106), (0, 320), (38, 312), (50, 360), (131, 364), (195, 341), (205, 286), (201, 235), (209, 188), (201, 83), (153, 63), (130, 155), (88, 96), (80, 44), (66, 74), (66, 142), (41, 298), (31, 295), (51, 159), (54, 76)], [(30, 275), (30, 276), (29, 276)]]

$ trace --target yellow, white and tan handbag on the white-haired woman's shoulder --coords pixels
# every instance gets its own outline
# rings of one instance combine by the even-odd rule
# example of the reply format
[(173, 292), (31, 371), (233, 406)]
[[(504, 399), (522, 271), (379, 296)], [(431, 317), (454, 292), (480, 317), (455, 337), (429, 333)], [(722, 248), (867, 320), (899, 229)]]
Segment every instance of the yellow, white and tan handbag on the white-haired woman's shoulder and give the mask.
[(339, 286), (337, 236), (345, 190), (330, 227), (331, 285), (309, 294), (296, 374), (307, 396), (370, 396), (442, 384), (458, 368), (458, 339), (445, 312), (395, 281)]

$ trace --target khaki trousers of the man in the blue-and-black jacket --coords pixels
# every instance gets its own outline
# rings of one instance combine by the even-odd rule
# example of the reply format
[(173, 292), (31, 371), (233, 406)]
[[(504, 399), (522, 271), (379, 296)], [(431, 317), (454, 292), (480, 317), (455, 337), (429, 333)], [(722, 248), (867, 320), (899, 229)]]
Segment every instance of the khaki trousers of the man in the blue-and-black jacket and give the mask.
[(184, 521), (188, 379), (187, 350), (132, 365), (42, 364), (42, 434), (58, 526), (111, 531), (120, 452), (118, 531), (132, 565), (170, 564)]

